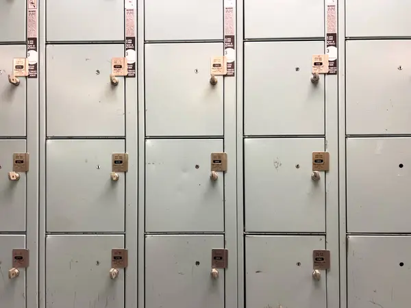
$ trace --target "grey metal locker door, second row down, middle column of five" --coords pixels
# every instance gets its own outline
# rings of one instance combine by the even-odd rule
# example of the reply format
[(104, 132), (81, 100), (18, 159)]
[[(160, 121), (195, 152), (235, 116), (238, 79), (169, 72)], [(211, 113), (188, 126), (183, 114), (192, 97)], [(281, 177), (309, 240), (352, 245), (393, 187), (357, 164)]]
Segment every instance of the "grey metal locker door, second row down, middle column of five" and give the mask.
[(146, 44), (147, 136), (223, 136), (223, 76), (210, 83), (217, 55), (223, 43)]

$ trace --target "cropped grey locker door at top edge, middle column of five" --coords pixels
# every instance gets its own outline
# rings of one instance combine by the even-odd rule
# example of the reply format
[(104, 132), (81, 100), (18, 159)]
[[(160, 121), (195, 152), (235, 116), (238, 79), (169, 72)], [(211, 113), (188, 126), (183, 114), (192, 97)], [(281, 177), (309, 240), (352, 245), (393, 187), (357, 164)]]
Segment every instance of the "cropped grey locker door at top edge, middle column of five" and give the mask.
[(222, 40), (223, 0), (145, 1), (145, 39)]

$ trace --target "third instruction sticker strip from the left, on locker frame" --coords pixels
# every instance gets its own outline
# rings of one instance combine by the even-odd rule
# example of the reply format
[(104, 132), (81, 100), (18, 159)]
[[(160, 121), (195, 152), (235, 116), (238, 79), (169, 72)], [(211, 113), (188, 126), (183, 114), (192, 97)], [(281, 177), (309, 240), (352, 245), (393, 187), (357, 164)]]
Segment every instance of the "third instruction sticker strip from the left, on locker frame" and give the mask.
[(236, 32), (234, 31), (234, 7), (235, 1), (224, 1), (224, 55), (227, 60), (227, 75), (236, 75)]

